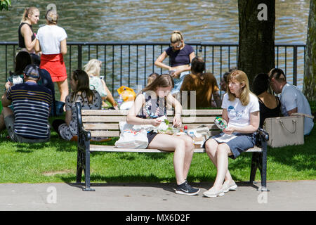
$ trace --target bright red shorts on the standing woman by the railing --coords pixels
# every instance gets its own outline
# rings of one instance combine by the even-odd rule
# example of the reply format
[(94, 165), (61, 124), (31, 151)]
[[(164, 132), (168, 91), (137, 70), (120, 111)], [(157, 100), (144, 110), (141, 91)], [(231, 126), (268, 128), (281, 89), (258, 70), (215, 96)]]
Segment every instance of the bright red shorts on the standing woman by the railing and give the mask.
[(41, 65), (51, 75), (53, 82), (62, 82), (67, 79), (67, 71), (62, 53), (52, 55), (41, 55)]

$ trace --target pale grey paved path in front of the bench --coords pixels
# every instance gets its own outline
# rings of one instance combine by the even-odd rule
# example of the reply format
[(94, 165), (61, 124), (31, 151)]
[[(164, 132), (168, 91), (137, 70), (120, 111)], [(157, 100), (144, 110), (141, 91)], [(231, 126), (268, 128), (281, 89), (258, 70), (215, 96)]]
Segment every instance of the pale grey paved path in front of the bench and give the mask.
[(174, 193), (175, 184), (98, 184), (95, 192), (65, 183), (0, 184), (0, 210), (316, 210), (316, 180), (268, 182), (270, 192), (237, 183), (223, 197), (202, 197), (210, 185), (193, 184), (199, 195), (185, 196)]

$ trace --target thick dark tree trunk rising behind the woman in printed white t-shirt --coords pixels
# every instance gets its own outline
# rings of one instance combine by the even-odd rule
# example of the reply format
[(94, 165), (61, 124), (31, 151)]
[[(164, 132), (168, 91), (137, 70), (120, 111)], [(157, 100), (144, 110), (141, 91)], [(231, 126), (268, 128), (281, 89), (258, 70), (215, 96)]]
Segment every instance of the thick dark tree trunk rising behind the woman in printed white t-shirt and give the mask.
[(275, 68), (275, 0), (238, 0), (238, 70), (254, 77)]

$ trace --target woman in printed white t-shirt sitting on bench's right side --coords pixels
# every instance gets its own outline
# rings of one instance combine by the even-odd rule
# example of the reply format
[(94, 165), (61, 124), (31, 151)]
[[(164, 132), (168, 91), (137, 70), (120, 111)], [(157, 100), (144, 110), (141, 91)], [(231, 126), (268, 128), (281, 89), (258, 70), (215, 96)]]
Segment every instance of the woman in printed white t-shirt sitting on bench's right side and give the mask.
[(228, 75), (228, 92), (222, 103), (223, 119), (228, 123), (223, 133), (204, 143), (206, 153), (217, 168), (216, 180), (206, 197), (223, 196), (236, 190), (237, 185), (228, 171), (228, 157), (237, 156), (255, 145), (255, 133), (259, 127), (258, 98), (249, 91), (248, 77), (241, 70)]

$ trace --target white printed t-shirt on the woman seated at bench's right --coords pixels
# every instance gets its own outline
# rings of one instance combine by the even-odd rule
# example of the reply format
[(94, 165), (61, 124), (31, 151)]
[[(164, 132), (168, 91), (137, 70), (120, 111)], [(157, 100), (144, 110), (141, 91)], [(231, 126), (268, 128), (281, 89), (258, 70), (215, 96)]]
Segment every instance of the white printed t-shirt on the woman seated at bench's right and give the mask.
[(250, 113), (260, 110), (258, 98), (254, 94), (249, 94), (250, 101), (248, 105), (242, 105), (239, 98), (234, 101), (229, 101), (228, 94), (224, 95), (222, 108), (228, 113), (228, 126), (245, 127), (250, 125)]

